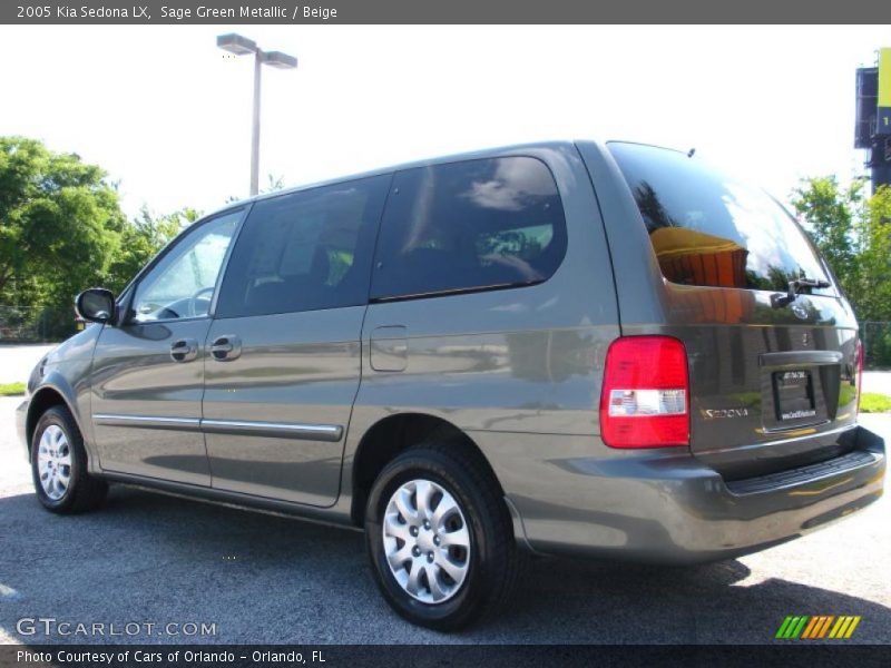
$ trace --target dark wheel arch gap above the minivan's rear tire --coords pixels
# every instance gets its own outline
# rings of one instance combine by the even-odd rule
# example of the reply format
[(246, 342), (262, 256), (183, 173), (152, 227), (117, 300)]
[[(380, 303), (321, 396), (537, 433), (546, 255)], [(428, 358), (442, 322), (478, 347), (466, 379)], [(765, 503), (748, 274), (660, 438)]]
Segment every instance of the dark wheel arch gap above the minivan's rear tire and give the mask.
[(489, 460), (467, 432), (448, 420), (428, 413), (399, 413), (375, 422), (359, 442), (352, 466), (350, 517), (354, 524), (363, 524), (369, 493), (383, 468), (409, 448), (431, 441), (449, 443), (466, 453), (482, 466), (497, 485), (498, 493), (505, 495)]

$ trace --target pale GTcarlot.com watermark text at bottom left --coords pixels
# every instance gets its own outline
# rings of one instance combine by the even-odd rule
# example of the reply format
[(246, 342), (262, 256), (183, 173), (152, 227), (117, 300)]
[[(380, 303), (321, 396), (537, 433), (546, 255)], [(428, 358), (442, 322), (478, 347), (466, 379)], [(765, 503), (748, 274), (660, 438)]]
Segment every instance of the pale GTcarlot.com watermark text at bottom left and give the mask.
[(22, 617), (16, 622), (19, 636), (29, 638), (135, 638), (170, 636), (205, 638), (216, 636), (216, 622), (205, 621), (72, 621), (56, 617)]

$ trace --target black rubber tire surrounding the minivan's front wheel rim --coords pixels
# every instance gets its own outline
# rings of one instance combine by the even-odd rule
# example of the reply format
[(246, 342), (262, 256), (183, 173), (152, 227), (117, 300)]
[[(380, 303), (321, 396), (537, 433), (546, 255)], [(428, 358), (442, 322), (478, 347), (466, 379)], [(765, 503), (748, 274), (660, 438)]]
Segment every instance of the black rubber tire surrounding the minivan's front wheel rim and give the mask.
[[(38, 465), (40, 440), (43, 432), (52, 425), (65, 432), (71, 461), (68, 488), (58, 499), (51, 499), (47, 494), (40, 481)], [(87, 472), (87, 451), (84, 449), (84, 436), (67, 406), (52, 406), (38, 420), (33, 439), (31, 439), (31, 477), (38, 500), (43, 508), (55, 513), (86, 512), (97, 508), (105, 500), (108, 483)]]

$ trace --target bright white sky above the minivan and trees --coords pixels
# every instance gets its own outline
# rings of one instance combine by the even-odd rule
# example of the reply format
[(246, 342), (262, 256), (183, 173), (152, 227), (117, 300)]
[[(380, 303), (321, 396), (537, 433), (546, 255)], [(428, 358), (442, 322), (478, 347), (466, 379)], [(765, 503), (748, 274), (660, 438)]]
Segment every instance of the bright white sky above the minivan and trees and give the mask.
[(782, 200), (862, 174), (854, 69), (888, 27), (0, 27), (0, 135), (77, 153), (125, 212), (210, 212), (249, 185), (253, 62), (239, 32), (298, 59), (263, 68), (261, 187), (547, 139), (693, 148)]

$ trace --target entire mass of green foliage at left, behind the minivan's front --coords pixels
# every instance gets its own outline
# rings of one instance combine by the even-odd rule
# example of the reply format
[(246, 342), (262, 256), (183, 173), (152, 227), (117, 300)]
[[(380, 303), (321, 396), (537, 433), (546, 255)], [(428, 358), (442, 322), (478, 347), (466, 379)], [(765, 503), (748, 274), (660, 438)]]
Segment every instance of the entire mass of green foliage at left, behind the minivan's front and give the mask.
[(0, 137), (0, 304), (39, 320), (42, 336), (66, 336), (77, 293), (123, 289), (198, 217), (190, 208), (155, 215), (143, 207), (127, 220), (100, 167), (36, 139)]

